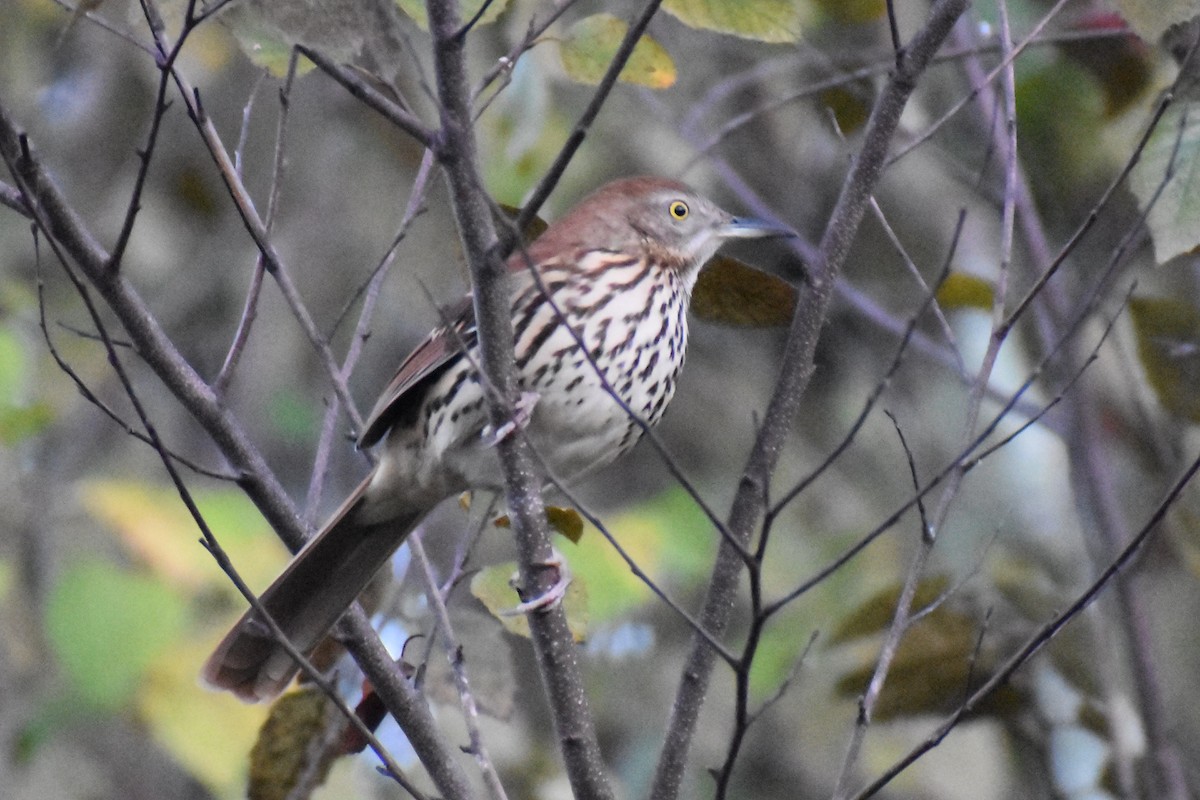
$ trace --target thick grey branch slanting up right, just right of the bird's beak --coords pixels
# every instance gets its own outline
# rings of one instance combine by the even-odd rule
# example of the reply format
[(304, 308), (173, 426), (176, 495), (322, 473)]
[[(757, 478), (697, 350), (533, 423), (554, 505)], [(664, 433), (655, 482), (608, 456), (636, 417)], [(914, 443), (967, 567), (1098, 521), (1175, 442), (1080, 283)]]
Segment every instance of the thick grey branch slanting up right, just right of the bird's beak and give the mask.
[[(767, 487), (796, 419), (800, 396), (812, 374), (817, 336), (829, 309), (834, 283), (878, 182), (900, 112), (916, 88), (917, 78), (967, 5), (968, 0), (940, 0), (934, 5), (925, 28), (913, 37), (907, 49), (898, 54), (898, 66), (871, 112), (863, 149), (846, 176), (821, 240), (821, 258), (811, 265), (811, 290), (797, 303), (775, 392), (730, 512), (730, 530), (743, 543), (750, 541), (766, 506)], [(714, 636), (720, 637), (728, 627), (740, 572), (740, 557), (733, 547), (722, 543), (701, 615), (702, 624)], [(654, 775), (650, 796), (656, 800), (673, 800), (679, 795), (688, 751), (713, 666), (712, 649), (702, 638), (694, 637)]]

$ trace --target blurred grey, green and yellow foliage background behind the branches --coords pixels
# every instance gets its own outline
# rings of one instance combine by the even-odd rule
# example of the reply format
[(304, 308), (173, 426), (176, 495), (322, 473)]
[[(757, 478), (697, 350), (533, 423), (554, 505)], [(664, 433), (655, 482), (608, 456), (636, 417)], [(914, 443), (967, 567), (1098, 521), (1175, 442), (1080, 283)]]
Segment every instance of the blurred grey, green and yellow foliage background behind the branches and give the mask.
[[(110, 242), (139, 166), (137, 149), (150, 124), (158, 73), (138, 44), (146, 41), (138, 4), (90, 5), (112, 30), (50, 0), (0, 4), (0, 98), (91, 230)], [(530, 17), (547, 12), (546, 5), (492, 4), (482, 20), (487, 24), (469, 37), (473, 74), (496, 66), (521, 40)], [(1087, 217), (1130, 157), (1158, 92), (1175, 76), (1175, 62), (1157, 46), (1163, 18), (1146, 12), (1144, 4), (1127, 5), (1136, 7), (1070, 2), (1048, 28), (1051, 41), (1016, 60), (1021, 167), (1051, 251)], [(271, 180), (280, 74), (298, 19), (311, 23), (301, 38), (337, 56), (361, 56), (378, 74), (395, 79), (427, 119), (436, 119), (422, 88), (431, 77), (422, 5), (401, 0), (398, 6), (396, 38), (390, 29), (365, 26), (353, 2), (247, 1), (232, 4), (220, 24), (205, 24), (188, 42), (182, 70), (199, 88), (227, 148), (240, 154), (259, 207), (266, 205)], [(1016, 35), (1048, 7), (1039, 0), (1010, 2)], [(178, 28), (179, 4), (164, 8), (168, 30)], [(898, 2), (901, 30), (914, 30), (925, 8), (923, 2)], [(485, 179), (497, 200), (520, 205), (542, 175), (635, 11), (631, 2), (575, 4), (506, 74), (478, 125)], [(1132, 36), (1115, 11), (1129, 14), (1145, 38)], [(958, 56), (923, 78), (898, 149), (967, 95), (966, 61), (978, 55), (988, 67), (997, 62), (997, 25), (995, 4), (978, 2), (949, 48)], [(649, 35), (653, 41), (640, 46), (626, 82), (544, 215), (553, 218), (607, 179), (656, 173), (703, 187), (727, 207), (786, 221), (802, 234), (799, 254), (811, 252), (892, 58), (883, 2), (678, 0), (665, 4)], [(1200, 137), (1193, 136), (1188, 103), (1177, 108), (1183, 110), (1160, 126), (1134, 175), (1136, 194), (1118, 190), (1104, 224), (1075, 247), (1056, 278), (1070, 302), (1080, 302), (1100, 279), (1168, 170), (1194, 163)], [(881, 399), (899, 420), (922, 480), (958, 456), (967, 390), (956, 360), (973, 374), (989, 335), (1003, 192), (991, 138), (992, 126), (1003, 124), (996, 113), (968, 103), (931, 140), (892, 164), (877, 196), (890, 231), (925, 282), (946, 259), (956, 215), (966, 210), (953, 277), (938, 293), (948, 326), (922, 320)], [(286, 138), (274, 242), (341, 353), (352, 325), (336, 323), (391, 243), (422, 152), (313, 71), (292, 88)], [(1153, 237), (1134, 236), (1122, 251), (1127, 263), (1121, 275), (1140, 281), (1132, 317), (1121, 317), (1087, 378), (1073, 389), (1103, 410), (1102, 439), (1093, 444), (1130, 531), (1196, 444), (1190, 426), (1200, 372), (1189, 369), (1200, 343), (1193, 300), (1196, 216), (1190, 184), (1181, 180), (1175, 188), (1177, 197), (1152, 211)], [(425, 205), (383, 288), (382, 312), (352, 379), (364, 404), (390, 378), (397, 359), (439, 321), (436, 303), (464, 288), (466, 269), (438, 180)], [(779, 495), (847, 434), (886, 374), (899, 332), (923, 301), (923, 283), (890, 235), (869, 217), (854, 245), (802, 419), (781, 462)], [(124, 269), (205, 377), (222, 365), (256, 255), (196, 130), (180, 108), (170, 109)], [(802, 284), (797, 253), (760, 245), (738, 255)], [(1168, 260), (1168, 267), (1153, 269)], [(1016, 297), (1045, 264), (1024, 246), (1014, 261)], [(1117, 283), (1127, 285), (1128, 277)], [(1105, 287), (1099, 311), (1117, 314), (1122, 291)], [(28, 221), (2, 209), (0, 786), (12, 798), (240, 796), (247, 753), (266, 710), (202, 690), (196, 672), (240, 612), (241, 600), (197, 543), (194, 523), (155, 453), (85, 401), (55, 365), (40, 330), (42, 309), (61, 357), (132, 423), (76, 291), (50, 253), (34, 246)], [(1086, 357), (1104, 321), (1096, 313), (1087, 318), (1075, 363)], [(985, 411), (996, 413), (997, 398), (1004, 399), (1042, 356), (1033, 327), (1031, 319), (1022, 320), (1001, 351), (996, 393)], [(114, 335), (120, 338), (120, 331)], [(694, 325), (689, 365), (660, 433), (719, 515), (737, 488), (781, 344), (779, 329)], [(220, 471), (216, 450), (198, 426), (133, 356), (128, 362), (170, 447)], [(1028, 408), (1051, 401), (1068, 373), (1063, 367), (1048, 375), (1057, 383), (1036, 384), (1031, 405), (1010, 414), (1001, 433), (1027, 419)], [(298, 501), (310, 483), (330, 393), (310, 344), (268, 282), (228, 405)], [(898, 655), (869, 735), (864, 775), (876, 774), (924, 736), (936, 718), (931, 715), (953, 710), (967, 685), (977, 684), (1096, 575), (1097, 553), (1103, 552), (1090, 540), (1096, 511), (1073, 483), (1078, 461), (1096, 456), (1072, 451), (1070, 426), (1052, 411), (968, 474), (938, 531), (918, 601), (918, 607), (935, 600), (941, 604), (919, 621)], [(338, 438), (329, 487), (306, 509), (310, 518), (318, 522), (335, 507), (364, 470), (361, 456)], [(786, 595), (829, 564), (902, 504), (911, 483), (893, 425), (872, 414), (832, 469), (774, 518), (764, 594)], [(283, 547), (235, 486), (196, 474), (190, 485), (239, 570), (252, 587), (264, 587), (286, 563)], [(655, 450), (643, 444), (580, 488), (641, 567), (685, 608), (695, 608), (716, 534)], [(506, 533), (486, 524), (485, 505), (463, 510), (448, 504), (426, 527), (425, 542), (445, 569), (464, 535), (485, 525), (470, 566), (485, 570), (481, 578), (500, 576), (503, 584), (512, 553)], [(1138, 581), (1152, 614), (1146, 620), (1154, 644), (1148, 657), (1159, 669), (1160, 710), (1169, 714), (1190, 764), (1200, 763), (1200, 716), (1190, 702), (1200, 674), (1193, 634), (1200, 613), (1198, 510), (1194, 492), (1186, 494), (1169, 516), (1165, 535), (1141, 559)], [(919, 521), (910, 513), (767, 627), (754, 662), (752, 702), (779, 697), (750, 732), (739, 796), (830, 792), (856, 699), (918, 535)], [(570, 602), (586, 631), (601, 741), (624, 796), (640, 796), (653, 771), (690, 630), (632, 577), (594, 529), (587, 528), (577, 543), (564, 540), (560, 549), (577, 576)], [(407, 566), (402, 553), (397, 575), (408, 572)], [(527, 644), (502, 631), (482, 599), (460, 589), (451, 606), (460, 630), (469, 632), (463, 636), (466, 657), (481, 703), (491, 710), (485, 726), (510, 796), (566, 796)], [(1078, 619), (974, 721), (889, 787), (889, 796), (1120, 793), (1122, 776), (1114, 759), (1140, 769), (1145, 753), (1139, 750), (1142, 722), (1133, 710), (1139, 688), (1130, 678), (1134, 645), (1114, 626), (1111, 603)], [(392, 642), (428, 632), (415, 577), (401, 584), (386, 607), (397, 620), (385, 628)], [(413, 649), (406, 660), (418, 662), (424, 656)], [(456, 729), (461, 722), (440, 650), (415, 649), (430, 656), (427, 691), (439, 720)], [(697, 796), (709, 792), (703, 768), (724, 758), (732, 703), (732, 678), (719, 670), (694, 750), (691, 792)], [(403, 752), (395, 732), (386, 736)], [(370, 754), (343, 759), (318, 796), (392, 796), (388, 793), (395, 787), (378, 778), (373, 765)], [(1069, 781), (1074, 783), (1064, 788)]]

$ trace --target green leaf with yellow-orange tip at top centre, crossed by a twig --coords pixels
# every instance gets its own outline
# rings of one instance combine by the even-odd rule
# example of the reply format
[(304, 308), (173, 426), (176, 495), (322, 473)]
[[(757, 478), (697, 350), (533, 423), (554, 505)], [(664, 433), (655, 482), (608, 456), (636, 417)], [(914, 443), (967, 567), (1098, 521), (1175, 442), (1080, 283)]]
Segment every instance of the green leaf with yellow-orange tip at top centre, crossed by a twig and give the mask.
[[(612, 14), (593, 14), (571, 25), (559, 50), (566, 74), (580, 83), (600, 83), (628, 30), (629, 25)], [(676, 82), (674, 62), (661, 44), (643, 35), (620, 71), (619, 79), (650, 89), (666, 89)]]

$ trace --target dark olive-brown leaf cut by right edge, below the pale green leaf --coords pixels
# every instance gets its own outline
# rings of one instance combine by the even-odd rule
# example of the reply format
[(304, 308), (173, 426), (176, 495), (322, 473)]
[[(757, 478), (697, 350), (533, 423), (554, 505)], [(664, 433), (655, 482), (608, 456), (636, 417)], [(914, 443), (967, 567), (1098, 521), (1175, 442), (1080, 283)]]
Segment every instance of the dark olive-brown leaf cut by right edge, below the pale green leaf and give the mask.
[(1200, 311), (1180, 300), (1134, 297), (1129, 313), (1138, 360), (1158, 402), (1200, 422)]

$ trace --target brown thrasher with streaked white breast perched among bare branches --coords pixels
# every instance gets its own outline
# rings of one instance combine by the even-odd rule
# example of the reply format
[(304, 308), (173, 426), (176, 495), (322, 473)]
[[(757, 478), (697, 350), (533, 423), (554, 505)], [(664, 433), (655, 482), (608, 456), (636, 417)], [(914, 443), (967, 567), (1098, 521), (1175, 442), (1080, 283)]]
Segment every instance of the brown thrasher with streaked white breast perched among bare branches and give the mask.
[[(662, 416), (683, 366), (691, 288), (716, 248), (787, 233), (736, 218), (683, 184), (631, 178), (600, 188), (509, 259), (518, 387), (533, 398), (522, 431), (557, 480), (634, 446), (642, 427), (624, 407), (649, 425)], [(300, 652), (317, 646), (436, 505), (503, 486), (485, 434), (469, 297), (455, 312), (371, 411), (359, 446), (384, 441), (378, 465), (260, 597)], [(209, 657), (204, 679), (263, 700), (298, 669), (251, 609)]]

